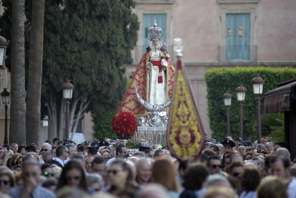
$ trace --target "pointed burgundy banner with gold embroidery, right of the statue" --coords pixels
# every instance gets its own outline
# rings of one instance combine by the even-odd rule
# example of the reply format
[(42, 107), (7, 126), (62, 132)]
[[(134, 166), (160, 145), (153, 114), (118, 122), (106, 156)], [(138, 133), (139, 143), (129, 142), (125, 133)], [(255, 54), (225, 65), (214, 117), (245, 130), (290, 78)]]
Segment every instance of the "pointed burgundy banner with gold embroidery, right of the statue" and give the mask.
[(205, 135), (180, 59), (177, 61), (172, 97), (166, 138), (168, 149), (179, 160), (197, 158), (202, 151)]

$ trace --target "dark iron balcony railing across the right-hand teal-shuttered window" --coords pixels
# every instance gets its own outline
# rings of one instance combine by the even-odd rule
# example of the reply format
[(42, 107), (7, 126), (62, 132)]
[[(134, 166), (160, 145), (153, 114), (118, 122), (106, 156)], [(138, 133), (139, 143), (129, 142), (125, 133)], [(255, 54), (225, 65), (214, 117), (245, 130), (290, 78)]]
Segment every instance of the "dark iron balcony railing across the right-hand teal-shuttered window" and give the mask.
[(257, 46), (219, 46), (219, 61), (256, 61)]

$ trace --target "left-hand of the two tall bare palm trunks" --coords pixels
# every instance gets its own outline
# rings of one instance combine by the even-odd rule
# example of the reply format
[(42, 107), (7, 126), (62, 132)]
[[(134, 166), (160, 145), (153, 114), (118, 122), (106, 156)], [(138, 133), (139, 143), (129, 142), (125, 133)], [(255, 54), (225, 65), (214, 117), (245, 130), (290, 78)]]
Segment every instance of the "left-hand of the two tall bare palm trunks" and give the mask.
[(26, 142), (25, 0), (14, 0), (11, 28), (11, 102), (9, 144)]

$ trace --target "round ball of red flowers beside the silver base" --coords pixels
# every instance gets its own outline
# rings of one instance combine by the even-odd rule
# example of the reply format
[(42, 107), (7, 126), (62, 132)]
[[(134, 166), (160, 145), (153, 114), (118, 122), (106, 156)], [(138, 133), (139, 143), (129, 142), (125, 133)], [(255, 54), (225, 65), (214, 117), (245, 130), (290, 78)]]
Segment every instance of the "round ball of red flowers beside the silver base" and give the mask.
[(132, 113), (122, 111), (113, 116), (111, 126), (118, 139), (130, 139), (137, 129), (137, 121)]

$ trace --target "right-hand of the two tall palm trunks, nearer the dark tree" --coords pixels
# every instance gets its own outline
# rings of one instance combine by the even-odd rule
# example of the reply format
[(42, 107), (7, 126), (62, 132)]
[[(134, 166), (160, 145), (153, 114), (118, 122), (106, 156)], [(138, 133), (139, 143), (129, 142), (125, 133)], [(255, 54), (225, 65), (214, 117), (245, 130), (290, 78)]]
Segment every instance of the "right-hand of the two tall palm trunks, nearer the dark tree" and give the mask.
[(27, 145), (39, 142), (44, 0), (33, 0), (26, 112)]

